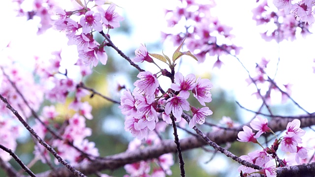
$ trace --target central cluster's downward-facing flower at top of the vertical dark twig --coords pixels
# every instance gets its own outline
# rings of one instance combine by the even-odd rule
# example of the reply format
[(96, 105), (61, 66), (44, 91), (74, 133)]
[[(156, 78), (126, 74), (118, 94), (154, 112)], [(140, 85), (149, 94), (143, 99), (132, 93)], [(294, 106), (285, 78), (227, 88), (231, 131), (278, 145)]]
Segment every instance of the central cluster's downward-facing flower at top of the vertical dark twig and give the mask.
[(174, 95), (166, 102), (165, 113), (169, 115), (172, 112), (176, 119), (182, 119), (183, 110), (189, 111), (189, 102), (181, 96)]

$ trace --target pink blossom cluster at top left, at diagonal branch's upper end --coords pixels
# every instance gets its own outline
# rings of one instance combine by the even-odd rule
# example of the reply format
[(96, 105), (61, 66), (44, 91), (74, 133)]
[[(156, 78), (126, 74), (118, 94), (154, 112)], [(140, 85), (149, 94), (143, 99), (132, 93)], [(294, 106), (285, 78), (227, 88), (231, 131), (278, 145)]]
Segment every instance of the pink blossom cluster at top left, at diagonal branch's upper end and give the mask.
[[(117, 12), (116, 5), (105, 5), (106, 0), (74, 0), (73, 9), (66, 11), (56, 6), (52, 0), (34, 0), (33, 10), (25, 12), (24, 0), (16, 0), (19, 15), (41, 18), (38, 32), (54, 27), (63, 31), (69, 39), (68, 45), (76, 45), (79, 59), (86, 65), (96, 66), (98, 61), (102, 64), (107, 62), (107, 54), (104, 51), (105, 39), (101, 44), (94, 40), (94, 32), (100, 32), (104, 28), (114, 29), (120, 27), (120, 21), (124, 20)], [(108, 2), (106, 2), (108, 4)], [(108, 34), (106, 34), (108, 35)]]

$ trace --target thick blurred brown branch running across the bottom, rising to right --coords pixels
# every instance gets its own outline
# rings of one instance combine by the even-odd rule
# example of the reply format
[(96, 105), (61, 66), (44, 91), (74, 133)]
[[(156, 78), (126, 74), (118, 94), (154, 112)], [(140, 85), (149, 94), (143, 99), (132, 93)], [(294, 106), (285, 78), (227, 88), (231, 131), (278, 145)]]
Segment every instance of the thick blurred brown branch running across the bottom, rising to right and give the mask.
[[(303, 115), (304, 116), (304, 115)], [(301, 116), (301, 117), (303, 117)], [(274, 131), (281, 131), (286, 129), (288, 122), (292, 121), (294, 118), (273, 118), (269, 121), (268, 126)], [(315, 125), (315, 115), (312, 118), (298, 118), (301, 121), (301, 127), (308, 127)], [(242, 127), (238, 128), (238, 131), (229, 130), (217, 130), (215, 132), (208, 132), (206, 136), (216, 144), (225, 144), (227, 142), (236, 141), (237, 134), (242, 131)], [(200, 148), (207, 145), (204, 140), (200, 140), (194, 136), (189, 138), (181, 139), (180, 141), (182, 151)], [(122, 152), (119, 154), (107, 156), (107, 159), (101, 160), (96, 159), (93, 162), (88, 162), (84, 165), (76, 166), (76, 169), (84, 174), (93, 174), (95, 171), (102, 171), (106, 169), (114, 170), (123, 167), (126, 164), (131, 164), (141, 160), (149, 160), (153, 158), (158, 158), (160, 155), (165, 153), (175, 153), (176, 145), (174, 140), (164, 140), (160, 144), (155, 146), (149, 146), (143, 149), (137, 149), (128, 152)], [(38, 177), (50, 177), (55, 173), (55, 177), (70, 177), (71, 174), (64, 167), (57, 168), (56, 171), (46, 171), (41, 174), (37, 174)]]

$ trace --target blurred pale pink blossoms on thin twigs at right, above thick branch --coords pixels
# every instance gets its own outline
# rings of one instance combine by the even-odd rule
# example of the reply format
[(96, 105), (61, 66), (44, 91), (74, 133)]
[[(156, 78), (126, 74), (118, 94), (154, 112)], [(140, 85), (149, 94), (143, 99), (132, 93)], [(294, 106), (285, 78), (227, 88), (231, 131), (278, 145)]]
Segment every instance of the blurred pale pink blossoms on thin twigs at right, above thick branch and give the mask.
[[(257, 86), (258, 90), (252, 93), (257, 99), (264, 99), (267, 103), (270, 103), (271, 92), (281, 92), (281, 102), (285, 103), (288, 100), (288, 96), (291, 95), (292, 85), (288, 83), (278, 86), (275, 85), (277, 84), (275, 81), (271, 82), (265, 71), (268, 63), (269, 60), (262, 58), (255, 68), (256, 76), (246, 79), (246, 82), (249, 85), (255, 83)], [(266, 90), (266, 92), (263, 92), (262, 90)]]

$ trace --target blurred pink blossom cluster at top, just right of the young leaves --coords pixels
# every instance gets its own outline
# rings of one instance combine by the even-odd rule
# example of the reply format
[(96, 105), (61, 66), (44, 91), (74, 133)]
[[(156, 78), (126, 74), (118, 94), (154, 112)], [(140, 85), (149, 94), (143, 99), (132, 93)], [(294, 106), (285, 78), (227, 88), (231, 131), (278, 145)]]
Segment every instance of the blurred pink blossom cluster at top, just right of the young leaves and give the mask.
[(163, 32), (163, 38), (169, 38), (178, 45), (185, 38), (187, 48), (203, 62), (207, 56), (216, 56), (214, 67), (221, 67), (219, 56), (222, 54), (238, 54), (241, 47), (231, 44), (231, 27), (221, 24), (219, 19), (211, 14), (215, 1), (199, 3), (197, 0), (179, 0), (175, 9), (166, 10), (168, 27), (173, 32)]

